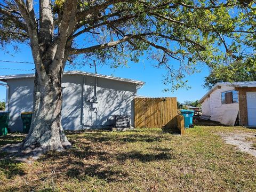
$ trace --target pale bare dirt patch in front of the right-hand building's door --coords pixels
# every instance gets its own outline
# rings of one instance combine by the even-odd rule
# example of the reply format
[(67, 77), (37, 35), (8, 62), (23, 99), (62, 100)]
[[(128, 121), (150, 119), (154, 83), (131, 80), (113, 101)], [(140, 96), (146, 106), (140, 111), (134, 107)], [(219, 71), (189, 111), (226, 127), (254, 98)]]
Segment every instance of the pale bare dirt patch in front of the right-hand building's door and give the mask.
[(256, 157), (256, 149), (253, 147), (253, 142), (248, 138), (255, 138), (254, 133), (218, 133), (226, 143), (236, 146), (238, 150), (241, 150), (245, 153), (249, 153)]

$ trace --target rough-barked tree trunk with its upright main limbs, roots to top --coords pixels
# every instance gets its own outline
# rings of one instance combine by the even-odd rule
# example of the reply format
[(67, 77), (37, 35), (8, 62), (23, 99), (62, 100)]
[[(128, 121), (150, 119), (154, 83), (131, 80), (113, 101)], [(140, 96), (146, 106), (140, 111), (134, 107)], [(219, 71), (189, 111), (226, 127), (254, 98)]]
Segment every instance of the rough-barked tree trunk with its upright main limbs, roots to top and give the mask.
[(33, 117), (26, 139), (19, 145), (21, 154), (37, 157), (47, 151), (71, 147), (61, 126), (61, 79), (68, 58), (68, 37), (76, 24), (77, 1), (67, 0), (58, 36), (53, 36), (53, 13), (49, 0), (39, 1), (39, 30), (33, 1), (15, 1), (26, 21), (36, 66)]

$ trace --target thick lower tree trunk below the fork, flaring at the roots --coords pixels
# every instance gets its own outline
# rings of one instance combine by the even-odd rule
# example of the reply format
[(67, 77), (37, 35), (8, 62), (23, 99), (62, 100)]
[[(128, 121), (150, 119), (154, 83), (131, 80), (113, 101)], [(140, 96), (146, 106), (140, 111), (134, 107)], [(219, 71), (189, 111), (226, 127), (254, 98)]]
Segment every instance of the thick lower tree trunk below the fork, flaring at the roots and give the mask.
[(36, 72), (33, 117), (22, 152), (45, 153), (71, 147), (61, 126), (61, 78), (62, 71), (49, 75), (42, 84)]

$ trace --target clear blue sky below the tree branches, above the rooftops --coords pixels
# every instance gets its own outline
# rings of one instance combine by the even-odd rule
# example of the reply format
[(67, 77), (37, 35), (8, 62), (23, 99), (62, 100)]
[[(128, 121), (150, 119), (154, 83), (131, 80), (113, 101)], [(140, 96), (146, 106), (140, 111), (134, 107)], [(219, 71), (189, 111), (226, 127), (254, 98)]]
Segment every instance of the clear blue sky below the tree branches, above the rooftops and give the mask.
[[(6, 52), (0, 52), (0, 60), (33, 62), (30, 48), (27, 45), (20, 45), (19, 48), (20, 51), (17, 52), (13, 50), (13, 47), (8, 46)], [(186, 79), (188, 79), (188, 85), (191, 86), (191, 89), (179, 89), (172, 93), (163, 92), (166, 88), (162, 83), (165, 70), (156, 69), (152, 64), (152, 61), (147, 60), (146, 58), (141, 58), (139, 63), (129, 62), (129, 67), (113, 69), (107, 65), (98, 66), (97, 72), (104, 75), (114, 75), (116, 77), (144, 81), (146, 84), (138, 91), (138, 94), (147, 97), (177, 97), (178, 101), (183, 102), (185, 100), (194, 101), (200, 99), (205, 94), (206, 90), (203, 89), (202, 84), (204, 83), (204, 77), (209, 74), (209, 69), (206, 66), (201, 67), (201, 73), (187, 76)], [(34, 68), (35, 66), (33, 64), (0, 62), (0, 75), (33, 73), (33, 71), (26, 70)], [(94, 68), (90, 68), (89, 66), (77, 66), (76, 69), (73, 67), (66, 67), (65, 70), (82, 70), (94, 73)], [(3, 99), (5, 99), (5, 88), (0, 86), (0, 100)]]

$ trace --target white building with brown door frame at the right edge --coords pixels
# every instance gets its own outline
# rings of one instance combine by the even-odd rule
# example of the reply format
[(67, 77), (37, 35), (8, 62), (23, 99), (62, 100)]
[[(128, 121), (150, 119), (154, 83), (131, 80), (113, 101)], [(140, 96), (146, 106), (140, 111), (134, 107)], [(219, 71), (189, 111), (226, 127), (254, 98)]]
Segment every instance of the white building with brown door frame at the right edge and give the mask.
[(199, 103), (212, 121), (221, 122), (225, 110), (236, 110), (241, 125), (256, 126), (256, 82), (217, 83)]

